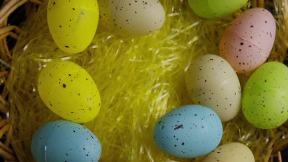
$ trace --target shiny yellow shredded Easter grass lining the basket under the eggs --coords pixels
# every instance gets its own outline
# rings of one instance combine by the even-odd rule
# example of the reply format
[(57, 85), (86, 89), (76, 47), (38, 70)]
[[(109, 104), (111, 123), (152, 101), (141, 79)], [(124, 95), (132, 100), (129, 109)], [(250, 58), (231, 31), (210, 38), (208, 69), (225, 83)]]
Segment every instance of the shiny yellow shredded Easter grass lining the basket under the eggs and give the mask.
[[(269, 61), (283, 61), (287, 48), (286, 15), (282, 1), (275, 1), (278, 4), (274, 14), (277, 35)], [(191, 60), (203, 54), (218, 55), (226, 26), (250, 4), (223, 19), (206, 20), (196, 16), (185, 0), (161, 0), (161, 3), (166, 20), (156, 33), (127, 38), (99, 27), (91, 45), (79, 54), (67, 54), (55, 45), (48, 30), (46, 3), (25, 22), (23, 29), (27, 32), (15, 47), (13, 69), (7, 81), (12, 101), (12, 146), (21, 162), (34, 161), (31, 139), (36, 129), (47, 121), (61, 119), (44, 105), (37, 91), (41, 68), (46, 62), (57, 59), (82, 66), (100, 91), (99, 115), (83, 123), (102, 144), (100, 162), (163, 162), (168, 159), (191, 162), (191, 159), (168, 156), (156, 147), (154, 124), (168, 111), (192, 104), (184, 80)], [(249, 75), (238, 75), (242, 88)], [(288, 143), (287, 124), (279, 129), (257, 129), (245, 120), (242, 112), (224, 122), (223, 127), (221, 144), (244, 143), (259, 162), (277, 155)], [(194, 161), (200, 162), (203, 158)]]

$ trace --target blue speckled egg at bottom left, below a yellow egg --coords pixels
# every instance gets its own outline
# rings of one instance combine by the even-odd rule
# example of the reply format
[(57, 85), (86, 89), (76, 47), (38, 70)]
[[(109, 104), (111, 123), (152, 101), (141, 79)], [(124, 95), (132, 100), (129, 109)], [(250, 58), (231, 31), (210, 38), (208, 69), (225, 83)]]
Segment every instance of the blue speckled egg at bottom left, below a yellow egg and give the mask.
[(71, 121), (50, 121), (33, 135), (32, 154), (37, 162), (98, 162), (101, 144), (84, 126)]

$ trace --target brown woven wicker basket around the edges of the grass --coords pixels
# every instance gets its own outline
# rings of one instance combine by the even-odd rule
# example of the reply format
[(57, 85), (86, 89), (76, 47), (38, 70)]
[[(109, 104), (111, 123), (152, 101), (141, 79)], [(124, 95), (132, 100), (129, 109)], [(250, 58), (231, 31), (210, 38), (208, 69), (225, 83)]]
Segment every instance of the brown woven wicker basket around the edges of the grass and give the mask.
[[(6, 88), (6, 79), (9, 75), (11, 56), (13, 53), (13, 43), (19, 39), (22, 31), (19, 26), (8, 24), (9, 19), (20, 20), (20, 15), (17, 15), (14, 11), (19, 7), (25, 9), (26, 17), (33, 15), (37, 12), (37, 5), (41, 5), (44, 0), (4, 0), (0, 1), (0, 157), (7, 162), (22, 161), (21, 157), (18, 157), (18, 153), (21, 150), (17, 150), (14, 147), (13, 150), (13, 130), (9, 124), (9, 106), (12, 101), (8, 100), (9, 92)], [(274, 0), (251, 0), (251, 4), (256, 7), (273, 7), (278, 5)], [(284, 6), (286, 15), (281, 18), (280, 23), (286, 27), (286, 38), (288, 38), (288, 0), (282, 0), (281, 6)], [(13, 14), (11, 17), (10, 15)], [(18, 13), (19, 14), (19, 13)], [(19, 23), (18, 23), (19, 24)], [(27, 31), (26, 31), (27, 32)], [(287, 39), (288, 40), (288, 39)], [(283, 51), (287, 50), (288, 42), (283, 43)], [(280, 127), (279, 132), (285, 132), (288, 134), (288, 123), (286, 122)], [(279, 137), (282, 136), (279, 132), (271, 132), (275, 135), (274, 140), (268, 143), (265, 151), (265, 159), (267, 162), (273, 162), (275, 155), (278, 155), (278, 162), (282, 162), (280, 151), (288, 145), (288, 139), (278, 141)], [(260, 154), (260, 153), (254, 153)]]

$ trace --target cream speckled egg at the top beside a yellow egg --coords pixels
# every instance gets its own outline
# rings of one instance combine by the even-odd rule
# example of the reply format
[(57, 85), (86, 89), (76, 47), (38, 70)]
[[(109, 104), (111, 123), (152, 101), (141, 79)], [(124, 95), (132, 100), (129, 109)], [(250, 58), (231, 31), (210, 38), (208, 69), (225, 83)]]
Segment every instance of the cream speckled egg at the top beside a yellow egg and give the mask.
[(165, 21), (165, 10), (158, 0), (99, 0), (100, 23), (123, 35), (156, 32)]

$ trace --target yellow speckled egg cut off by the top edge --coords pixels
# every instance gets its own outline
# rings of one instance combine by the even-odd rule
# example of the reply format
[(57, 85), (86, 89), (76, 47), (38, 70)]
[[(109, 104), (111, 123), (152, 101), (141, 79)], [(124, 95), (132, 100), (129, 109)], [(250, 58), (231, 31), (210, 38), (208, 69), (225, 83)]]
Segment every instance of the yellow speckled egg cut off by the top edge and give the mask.
[(53, 40), (67, 53), (79, 53), (92, 41), (99, 20), (97, 0), (49, 0), (47, 21)]

